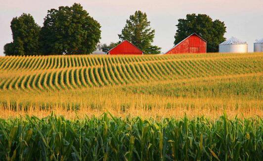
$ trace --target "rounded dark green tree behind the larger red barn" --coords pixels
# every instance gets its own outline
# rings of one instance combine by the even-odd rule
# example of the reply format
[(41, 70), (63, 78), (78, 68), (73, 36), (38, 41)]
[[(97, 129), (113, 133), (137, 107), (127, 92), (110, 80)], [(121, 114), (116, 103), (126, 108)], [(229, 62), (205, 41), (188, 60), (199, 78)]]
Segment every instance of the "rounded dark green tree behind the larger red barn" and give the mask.
[(226, 27), (224, 22), (213, 21), (206, 14), (187, 14), (186, 19), (178, 20), (176, 27), (175, 45), (194, 32), (207, 41), (207, 52), (218, 52), (219, 43), (225, 41)]

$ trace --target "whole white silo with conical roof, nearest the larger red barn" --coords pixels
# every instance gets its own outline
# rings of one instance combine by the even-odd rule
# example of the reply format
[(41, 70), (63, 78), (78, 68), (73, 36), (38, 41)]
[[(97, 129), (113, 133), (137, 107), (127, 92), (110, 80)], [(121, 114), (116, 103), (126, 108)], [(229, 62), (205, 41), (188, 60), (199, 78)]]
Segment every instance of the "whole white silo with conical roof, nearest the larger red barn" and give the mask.
[(219, 53), (247, 53), (247, 42), (241, 41), (235, 37), (231, 37), (228, 40), (219, 44)]

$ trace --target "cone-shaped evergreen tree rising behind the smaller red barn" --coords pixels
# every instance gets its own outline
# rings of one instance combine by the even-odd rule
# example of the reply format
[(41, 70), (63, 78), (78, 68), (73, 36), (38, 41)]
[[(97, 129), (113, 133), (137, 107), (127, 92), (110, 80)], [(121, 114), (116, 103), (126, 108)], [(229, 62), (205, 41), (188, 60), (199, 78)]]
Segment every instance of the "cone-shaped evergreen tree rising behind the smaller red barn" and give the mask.
[(122, 33), (118, 35), (121, 40), (132, 42), (146, 54), (157, 54), (160, 53), (161, 48), (151, 45), (154, 34), (155, 30), (150, 28), (150, 21), (147, 20), (146, 13), (136, 11), (126, 21)]

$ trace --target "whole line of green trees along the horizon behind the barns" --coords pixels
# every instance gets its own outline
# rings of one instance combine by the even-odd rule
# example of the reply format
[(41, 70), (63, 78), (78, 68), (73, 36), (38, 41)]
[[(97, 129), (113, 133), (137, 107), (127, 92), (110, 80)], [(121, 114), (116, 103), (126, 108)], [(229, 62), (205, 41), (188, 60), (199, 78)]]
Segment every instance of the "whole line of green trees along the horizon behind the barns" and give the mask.
[[(150, 27), (146, 13), (135, 11), (118, 34), (120, 41), (100, 44), (101, 25), (89, 16), (79, 3), (50, 9), (40, 27), (30, 14), (23, 13), (11, 21), (13, 41), (4, 45), (5, 55), (62, 55), (89, 54), (101, 49), (106, 52), (123, 40), (128, 40), (147, 54), (158, 54), (161, 48), (152, 45), (155, 30)], [(176, 25), (177, 44), (196, 32), (207, 40), (207, 51), (218, 52), (218, 44), (225, 40), (224, 22), (213, 21), (206, 14), (187, 14)]]

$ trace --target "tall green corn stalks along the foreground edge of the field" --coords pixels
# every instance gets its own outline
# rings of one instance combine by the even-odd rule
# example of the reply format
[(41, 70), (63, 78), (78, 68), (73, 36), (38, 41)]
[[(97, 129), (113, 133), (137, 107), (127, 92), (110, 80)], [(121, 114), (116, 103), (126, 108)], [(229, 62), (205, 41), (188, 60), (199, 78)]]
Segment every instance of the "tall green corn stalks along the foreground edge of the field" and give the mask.
[(262, 161), (258, 119), (101, 117), (0, 120), (1, 160)]

